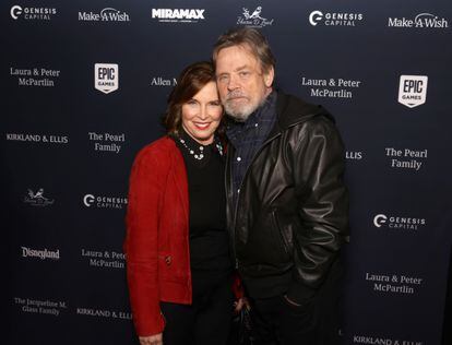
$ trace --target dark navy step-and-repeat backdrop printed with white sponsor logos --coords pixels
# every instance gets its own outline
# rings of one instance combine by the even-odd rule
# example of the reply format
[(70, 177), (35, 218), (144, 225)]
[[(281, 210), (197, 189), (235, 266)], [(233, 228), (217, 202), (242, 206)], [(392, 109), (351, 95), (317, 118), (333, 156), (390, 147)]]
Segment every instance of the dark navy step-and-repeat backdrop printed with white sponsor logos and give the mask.
[[(451, 248), (452, 7), (441, 0), (1, 1), (8, 344), (136, 344), (132, 159), (183, 67), (252, 26), (322, 104), (352, 199), (344, 344), (437, 345)], [(4, 284), (4, 283), (3, 283)]]

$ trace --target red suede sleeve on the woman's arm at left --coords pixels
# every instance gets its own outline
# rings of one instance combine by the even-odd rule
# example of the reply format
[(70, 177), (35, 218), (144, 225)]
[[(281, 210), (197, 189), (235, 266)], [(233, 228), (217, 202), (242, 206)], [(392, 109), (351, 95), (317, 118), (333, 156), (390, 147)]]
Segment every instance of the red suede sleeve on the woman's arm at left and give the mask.
[(127, 279), (133, 322), (139, 336), (163, 332), (159, 307), (157, 236), (165, 174), (146, 148), (135, 158), (129, 183), (127, 210)]

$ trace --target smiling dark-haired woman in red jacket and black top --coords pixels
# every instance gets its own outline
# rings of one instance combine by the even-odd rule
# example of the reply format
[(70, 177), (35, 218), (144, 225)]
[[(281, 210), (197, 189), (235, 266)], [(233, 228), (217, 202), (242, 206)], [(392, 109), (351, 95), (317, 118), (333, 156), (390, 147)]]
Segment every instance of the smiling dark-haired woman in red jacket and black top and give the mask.
[(212, 64), (189, 66), (168, 99), (167, 135), (133, 164), (124, 250), (142, 345), (227, 342), (234, 301), (222, 116)]

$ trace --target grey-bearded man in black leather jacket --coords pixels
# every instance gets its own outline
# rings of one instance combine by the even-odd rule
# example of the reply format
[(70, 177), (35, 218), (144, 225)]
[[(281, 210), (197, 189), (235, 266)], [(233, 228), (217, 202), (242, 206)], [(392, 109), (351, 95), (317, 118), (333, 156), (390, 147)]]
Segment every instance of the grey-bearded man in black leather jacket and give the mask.
[(275, 59), (252, 28), (221, 36), (213, 61), (227, 127), (228, 227), (258, 344), (337, 336), (347, 236), (344, 148), (331, 115), (273, 90)]

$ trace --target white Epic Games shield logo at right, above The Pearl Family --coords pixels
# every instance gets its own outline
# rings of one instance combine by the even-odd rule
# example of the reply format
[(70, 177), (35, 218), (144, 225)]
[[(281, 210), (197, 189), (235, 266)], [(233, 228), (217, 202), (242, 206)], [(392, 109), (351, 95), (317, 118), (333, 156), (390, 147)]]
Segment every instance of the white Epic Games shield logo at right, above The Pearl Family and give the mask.
[(401, 75), (399, 83), (399, 103), (414, 108), (426, 103), (427, 75)]

